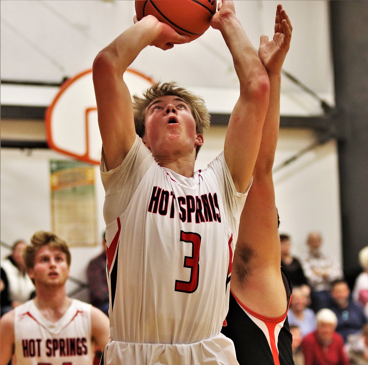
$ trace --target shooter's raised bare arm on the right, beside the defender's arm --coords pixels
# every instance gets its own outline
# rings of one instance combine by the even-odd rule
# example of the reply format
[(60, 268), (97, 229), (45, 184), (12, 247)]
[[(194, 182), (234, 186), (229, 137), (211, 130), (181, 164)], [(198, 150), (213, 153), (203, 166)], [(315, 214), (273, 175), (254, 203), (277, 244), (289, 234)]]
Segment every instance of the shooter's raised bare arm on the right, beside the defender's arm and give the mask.
[(233, 1), (219, 2), (219, 11), (213, 15), (211, 26), (221, 31), (240, 81), (240, 97), (231, 113), (224, 156), (237, 191), (244, 192), (261, 142), (269, 99), (269, 79), (236, 17)]

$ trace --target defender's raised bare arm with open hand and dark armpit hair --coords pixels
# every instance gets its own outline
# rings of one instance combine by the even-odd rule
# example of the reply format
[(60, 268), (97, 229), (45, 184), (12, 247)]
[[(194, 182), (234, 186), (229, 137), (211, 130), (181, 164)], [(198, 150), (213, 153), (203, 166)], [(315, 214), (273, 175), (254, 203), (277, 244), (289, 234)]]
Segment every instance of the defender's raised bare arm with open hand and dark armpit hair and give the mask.
[(291, 30), (285, 10), (278, 5), (273, 40), (268, 42), (268, 37), (262, 35), (258, 51), (268, 72), (270, 99), (253, 171), (254, 181), (240, 219), (231, 276), (231, 290), (243, 304), (270, 317), (282, 316), (287, 305), (280, 271), (272, 167), (280, 122), (281, 67), (290, 47)]

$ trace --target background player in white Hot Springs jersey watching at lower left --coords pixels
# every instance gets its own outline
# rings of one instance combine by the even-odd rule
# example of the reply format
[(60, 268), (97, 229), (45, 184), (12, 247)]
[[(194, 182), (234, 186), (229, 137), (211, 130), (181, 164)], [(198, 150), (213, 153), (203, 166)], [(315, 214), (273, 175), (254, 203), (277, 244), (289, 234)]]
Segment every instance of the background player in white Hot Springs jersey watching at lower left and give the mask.
[(95, 346), (109, 341), (109, 318), (91, 304), (68, 298), (65, 283), (71, 255), (64, 240), (39, 231), (24, 252), (33, 300), (6, 313), (0, 322), (0, 364), (91, 365)]

